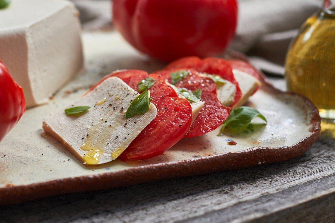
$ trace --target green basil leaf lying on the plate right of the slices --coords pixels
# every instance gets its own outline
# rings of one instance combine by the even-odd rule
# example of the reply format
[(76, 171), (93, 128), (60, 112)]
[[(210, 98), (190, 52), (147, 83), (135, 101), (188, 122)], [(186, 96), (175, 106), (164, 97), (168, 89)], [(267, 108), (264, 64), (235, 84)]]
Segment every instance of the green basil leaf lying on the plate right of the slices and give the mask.
[(256, 117), (261, 118), (262, 120), (265, 121), (265, 123), (267, 123), (265, 117), (261, 113), (259, 113), (259, 111), (256, 110), (255, 108), (247, 106), (235, 108), (232, 111), (230, 111), (230, 116), (226, 119), (226, 121), (223, 122), (223, 126), (218, 136), (222, 134), (224, 128), (243, 127), (249, 124), (251, 120), (253, 120)]

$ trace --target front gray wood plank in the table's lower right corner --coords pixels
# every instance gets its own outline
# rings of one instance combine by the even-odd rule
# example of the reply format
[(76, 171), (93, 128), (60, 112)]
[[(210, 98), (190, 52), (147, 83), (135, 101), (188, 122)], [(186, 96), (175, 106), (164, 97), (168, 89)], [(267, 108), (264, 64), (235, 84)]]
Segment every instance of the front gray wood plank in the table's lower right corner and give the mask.
[(334, 182), (332, 174), (181, 222), (334, 222)]

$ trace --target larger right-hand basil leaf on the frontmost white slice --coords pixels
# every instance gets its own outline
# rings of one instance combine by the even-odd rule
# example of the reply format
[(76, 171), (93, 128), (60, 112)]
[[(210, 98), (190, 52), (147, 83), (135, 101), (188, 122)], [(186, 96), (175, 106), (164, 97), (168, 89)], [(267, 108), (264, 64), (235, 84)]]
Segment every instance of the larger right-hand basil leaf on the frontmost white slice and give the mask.
[(150, 106), (151, 102), (150, 91), (143, 91), (142, 94), (138, 95), (130, 104), (127, 109), (126, 119), (129, 119), (136, 114), (144, 114)]

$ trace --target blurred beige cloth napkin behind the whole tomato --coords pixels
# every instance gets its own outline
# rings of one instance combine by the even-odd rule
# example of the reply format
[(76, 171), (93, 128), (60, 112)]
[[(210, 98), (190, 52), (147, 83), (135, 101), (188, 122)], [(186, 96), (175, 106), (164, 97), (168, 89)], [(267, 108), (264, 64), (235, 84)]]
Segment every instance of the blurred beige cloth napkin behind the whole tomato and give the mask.
[[(72, 1), (84, 29), (112, 27), (110, 0)], [(237, 33), (230, 48), (246, 53), (263, 71), (282, 75), (290, 40), (321, 4), (321, 0), (240, 0)]]

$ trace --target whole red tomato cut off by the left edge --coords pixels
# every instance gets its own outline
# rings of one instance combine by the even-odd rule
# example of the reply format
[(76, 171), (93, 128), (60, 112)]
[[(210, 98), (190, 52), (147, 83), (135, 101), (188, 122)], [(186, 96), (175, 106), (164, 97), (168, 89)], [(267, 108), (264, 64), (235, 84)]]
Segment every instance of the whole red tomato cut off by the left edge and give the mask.
[(23, 89), (0, 60), (0, 141), (16, 125), (24, 111)]

